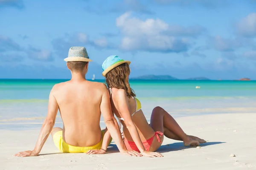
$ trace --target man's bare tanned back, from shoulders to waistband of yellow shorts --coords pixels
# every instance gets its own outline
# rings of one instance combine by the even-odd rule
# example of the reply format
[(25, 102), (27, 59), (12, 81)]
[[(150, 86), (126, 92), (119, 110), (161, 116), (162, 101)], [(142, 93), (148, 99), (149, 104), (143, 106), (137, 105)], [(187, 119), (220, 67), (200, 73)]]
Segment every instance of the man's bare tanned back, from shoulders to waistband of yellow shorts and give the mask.
[(67, 81), (52, 88), (63, 121), (64, 142), (73, 146), (93, 146), (102, 138), (100, 103), (106, 86), (100, 82)]

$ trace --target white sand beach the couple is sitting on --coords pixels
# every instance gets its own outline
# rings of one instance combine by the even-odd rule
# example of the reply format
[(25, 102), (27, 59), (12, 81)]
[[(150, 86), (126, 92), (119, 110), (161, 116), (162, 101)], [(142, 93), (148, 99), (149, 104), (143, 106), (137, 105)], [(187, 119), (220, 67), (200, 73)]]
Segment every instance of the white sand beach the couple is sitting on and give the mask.
[[(0, 130), (0, 170), (244, 170), (256, 169), (256, 114), (231, 113), (177, 118), (190, 135), (208, 140), (201, 148), (183, 147), (165, 138), (158, 152), (163, 158), (122, 156), (113, 143), (112, 153), (86, 155), (58, 153), (49, 137), (40, 156), (14, 157), (31, 150), (39, 130)], [(113, 147), (114, 146), (114, 147)], [(234, 154), (235, 157), (230, 157)]]

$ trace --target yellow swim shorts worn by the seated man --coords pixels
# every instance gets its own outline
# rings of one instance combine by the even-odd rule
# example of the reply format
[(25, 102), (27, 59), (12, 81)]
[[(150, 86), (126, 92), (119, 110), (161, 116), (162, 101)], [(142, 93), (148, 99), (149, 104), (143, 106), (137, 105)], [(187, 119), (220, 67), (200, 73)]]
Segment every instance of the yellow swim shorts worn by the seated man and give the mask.
[[(86, 153), (88, 150), (101, 149), (104, 134), (105, 134), (105, 130), (102, 130), (102, 139), (100, 140), (100, 142), (98, 144), (95, 144), (94, 146), (88, 146), (88, 147), (78, 147), (78, 146), (72, 146), (72, 145), (64, 142), (64, 140), (62, 138), (62, 130), (61, 130), (61, 131), (56, 132), (53, 135), (53, 142), (54, 142), (55, 146), (62, 153)], [(112, 141), (112, 138), (108, 144), (110, 144), (111, 141)]]

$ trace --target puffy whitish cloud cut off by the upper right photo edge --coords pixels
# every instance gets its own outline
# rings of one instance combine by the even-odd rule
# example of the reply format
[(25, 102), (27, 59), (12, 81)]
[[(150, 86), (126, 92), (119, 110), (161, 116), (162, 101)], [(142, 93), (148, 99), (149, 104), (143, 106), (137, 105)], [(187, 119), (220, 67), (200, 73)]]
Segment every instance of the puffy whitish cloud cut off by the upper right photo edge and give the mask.
[(237, 32), (245, 37), (256, 36), (256, 13), (248, 14), (237, 24)]

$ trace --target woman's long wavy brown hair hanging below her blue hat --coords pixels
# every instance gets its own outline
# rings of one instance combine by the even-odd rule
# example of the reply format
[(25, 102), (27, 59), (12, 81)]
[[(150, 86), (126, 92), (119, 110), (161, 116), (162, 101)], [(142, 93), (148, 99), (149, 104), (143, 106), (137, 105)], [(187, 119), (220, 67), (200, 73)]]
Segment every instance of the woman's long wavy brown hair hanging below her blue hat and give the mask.
[(128, 97), (135, 97), (136, 94), (129, 84), (130, 67), (125, 62), (113, 68), (106, 74), (108, 88), (124, 89)]

